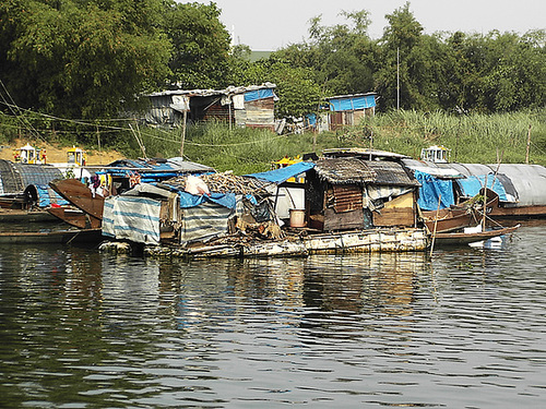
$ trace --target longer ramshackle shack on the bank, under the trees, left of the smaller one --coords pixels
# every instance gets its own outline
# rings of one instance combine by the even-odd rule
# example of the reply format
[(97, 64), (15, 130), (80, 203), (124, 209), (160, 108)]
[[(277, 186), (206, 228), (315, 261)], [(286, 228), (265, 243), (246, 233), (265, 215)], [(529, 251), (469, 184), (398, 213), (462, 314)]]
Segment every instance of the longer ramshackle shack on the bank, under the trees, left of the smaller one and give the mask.
[(276, 85), (230, 86), (225, 89), (175, 89), (146, 95), (151, 108), (145, 122), (180, 127), (219, 120), (236, 127), (275, 129)]

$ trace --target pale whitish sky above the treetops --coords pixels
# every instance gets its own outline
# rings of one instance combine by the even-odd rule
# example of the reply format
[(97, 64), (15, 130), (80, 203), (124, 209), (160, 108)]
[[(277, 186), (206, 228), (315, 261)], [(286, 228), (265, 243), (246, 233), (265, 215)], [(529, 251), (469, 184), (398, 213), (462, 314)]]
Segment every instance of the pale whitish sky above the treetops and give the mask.
[[(188, 2), (188, 1), (181, 1)], [(209, 4), (211, 0), (198, 1)], [(379, 38), (387, 25), (385, 14), (406, 0), (214, 0), (222, 10), (219, 20), (234, 44), (252, 50), (274, 51), (308, 38), (309, 20), (322, 15), (322, 25), (343, 23), (340, 11), (367, 10), (368, 34)], [(439, 31), (487, 34), (491, 29), (524, 34), (546, 28), (545, 0), (413, 0), (410, 10), (425, 33)]]

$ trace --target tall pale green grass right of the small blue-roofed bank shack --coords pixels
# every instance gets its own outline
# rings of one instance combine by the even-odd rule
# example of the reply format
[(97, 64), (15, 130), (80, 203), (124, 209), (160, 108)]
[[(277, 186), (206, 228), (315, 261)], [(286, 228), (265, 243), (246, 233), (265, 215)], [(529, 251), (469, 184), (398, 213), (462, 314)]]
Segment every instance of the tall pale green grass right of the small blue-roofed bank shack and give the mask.
[(531, 127), (530, 163), (546, 164), (546, 111), (452, 116), (390, 112), (366, 119), (375, 147), (417, 157), (423, 147), (443, 145), (461, 163), (524, 163)]

